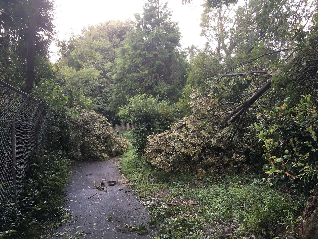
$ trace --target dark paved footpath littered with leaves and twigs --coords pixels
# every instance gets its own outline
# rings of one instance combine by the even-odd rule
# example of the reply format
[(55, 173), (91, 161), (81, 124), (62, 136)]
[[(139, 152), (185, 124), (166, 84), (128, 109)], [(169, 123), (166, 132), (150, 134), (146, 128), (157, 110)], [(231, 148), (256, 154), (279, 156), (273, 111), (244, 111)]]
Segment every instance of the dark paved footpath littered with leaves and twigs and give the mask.
[[(142, 222), (148, 224), (149, 214), (133, 192), (122, 183), (115, 163), (118, 163), (116, 158), (73, 165), (71, 181), (66, 187), (66, 199), (70, 199), (66, 202), (66, 209), (72, 214), (73, 221), (54, 231), (63, 233), (59, 238), (74, 235), (80, 230), (84, 231), (84, 235), (78, 237), (83, 239), (149, 238), (149, 235), (118, 230), (125, 228), (124, 223), (136, 226)], [(98, 190), (96, 186), (100, 186), (101, 181), (120, 181), (120, 186)], [(108, 214), (117, 221), (108, 221)]]

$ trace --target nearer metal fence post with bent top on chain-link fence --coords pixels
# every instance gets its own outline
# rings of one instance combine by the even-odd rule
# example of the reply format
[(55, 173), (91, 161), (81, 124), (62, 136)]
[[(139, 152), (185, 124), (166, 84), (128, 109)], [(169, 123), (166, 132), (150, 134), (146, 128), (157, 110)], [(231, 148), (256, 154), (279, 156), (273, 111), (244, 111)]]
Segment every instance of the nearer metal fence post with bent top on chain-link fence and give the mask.
[(26, 95), (22, 104), (20, 105), (17, 112), (14, 114), (12, 118), (12, 125), (11, 125), (11, 140), (12, 140), (12, 179), (13, 179), (13, 202), (17, 203), (17, 148), (16, 148), (16, 119), (19, 115), (20, 111), (22, 110), (23, 106), (25, 105), (26, 101), (29, 98), (29, 94)]

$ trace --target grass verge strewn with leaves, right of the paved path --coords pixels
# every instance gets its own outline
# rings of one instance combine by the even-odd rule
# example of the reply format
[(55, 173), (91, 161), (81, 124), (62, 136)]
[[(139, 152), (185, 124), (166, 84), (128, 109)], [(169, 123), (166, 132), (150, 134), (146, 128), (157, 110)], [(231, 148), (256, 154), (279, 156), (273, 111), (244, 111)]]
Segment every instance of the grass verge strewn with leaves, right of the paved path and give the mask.
[(306, 200), (271, 188), (262, 175), (198, 179), (155, 171), (132, 148), (120, 158), (151, 224), (163, 225), (161, 238), (297, 238), (294, 226)]

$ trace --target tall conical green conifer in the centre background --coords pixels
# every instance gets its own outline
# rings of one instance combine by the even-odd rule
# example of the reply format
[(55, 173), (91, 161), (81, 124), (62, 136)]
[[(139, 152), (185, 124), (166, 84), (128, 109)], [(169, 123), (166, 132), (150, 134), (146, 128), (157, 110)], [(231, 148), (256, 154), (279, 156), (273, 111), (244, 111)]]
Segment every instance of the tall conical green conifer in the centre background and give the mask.
[(135, 29), (129, 32), (120, 48), (113, 70), (114, 111), (127, 97), (147, 93), (176, 102), (185, 85), (188, 67), (180, 50), (179, 28), (171, 20), (167, 4), (148, 0), (142, 16), (135, 15)]

